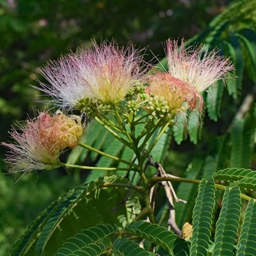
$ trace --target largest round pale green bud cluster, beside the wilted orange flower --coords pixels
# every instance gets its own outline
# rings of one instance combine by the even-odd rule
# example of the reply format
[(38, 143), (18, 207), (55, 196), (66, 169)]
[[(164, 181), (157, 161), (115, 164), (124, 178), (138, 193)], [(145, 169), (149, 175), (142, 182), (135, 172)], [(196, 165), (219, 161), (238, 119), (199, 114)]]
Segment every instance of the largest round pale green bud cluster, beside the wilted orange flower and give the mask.
[(148, 99), (146, 108), (155, 118), (161, 118), (169, 112), (168, 102), (167, 100), (164, 100), (164, 97), (162, 96), (152, 95)]

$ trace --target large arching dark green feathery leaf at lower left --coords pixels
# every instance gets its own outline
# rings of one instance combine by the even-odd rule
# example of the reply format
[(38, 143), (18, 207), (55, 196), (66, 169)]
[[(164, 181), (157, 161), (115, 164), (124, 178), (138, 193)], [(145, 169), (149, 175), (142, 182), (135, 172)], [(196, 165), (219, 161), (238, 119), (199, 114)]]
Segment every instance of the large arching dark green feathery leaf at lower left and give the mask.
[[(52, 255), (68, 237), (74, 236), (83, 228), (93, 227), (100, 223), (114, 224), (118, 220), (118, 216), (128, 216), (125, 205), (120, 204), (116, 207), (118, 203), (123, 202), (127, 190), (100, 189), (104, 182), (129, 183), (123, 177), (115, 176), (105, 179), (101, 177), (90, 184), (79, 186), (78, 189), (70, 191), (68, 195), (58, 199), (57, 204), (54, 203), (56, 207), (47, 212), (49, 215), (44, 214), (44, 221), (36, 230), (36, 236), (33, 235), (33, 243), (36, 243), (36, 255)], [(28, 228), (28, 230), (30, 229)], [(27, 239), (29, 237), (26, 238), (26, 241)], [(25, 242), (23, 237), (18, 243), (19, 246), (10, 255), (15, 255), (17, 250), (22, 250), (20, 246), (24, 246), (24, 248), (28, 246), (22, 241)], [(31, 251), (29, 255), (35, 255), (35, 251)]]

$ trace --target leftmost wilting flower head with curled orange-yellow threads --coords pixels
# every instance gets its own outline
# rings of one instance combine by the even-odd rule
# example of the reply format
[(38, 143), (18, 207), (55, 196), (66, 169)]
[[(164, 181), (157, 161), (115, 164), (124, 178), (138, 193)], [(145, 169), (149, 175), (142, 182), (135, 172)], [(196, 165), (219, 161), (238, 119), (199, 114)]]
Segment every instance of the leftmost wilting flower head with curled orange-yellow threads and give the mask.
[(3, 143), (10, 148), (5, 159), (10, 164), (10, 172), (51, 170), (58, 166), (64, 148), (77, 145), (83, 127), (79, 116), (39, 113), (36, 118), (27, 120), (25, 127), (12, 127), (10, 134), (16, 143)]

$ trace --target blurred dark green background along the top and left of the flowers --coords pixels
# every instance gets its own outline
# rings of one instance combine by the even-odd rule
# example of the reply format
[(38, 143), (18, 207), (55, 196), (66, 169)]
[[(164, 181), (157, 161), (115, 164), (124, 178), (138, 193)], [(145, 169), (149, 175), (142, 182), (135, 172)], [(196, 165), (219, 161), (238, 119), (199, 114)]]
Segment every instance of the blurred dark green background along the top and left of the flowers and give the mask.
[[(0, 0), (0, 141), (10, 125), (44, 109), (39, 68), (77, 47), (112, 38), (147, 48), (145, 58), (164, 57), (163, 42), (202, 33), (234, 1), (224, 0)], [(152, 52), (154, 54), (152, 54)], [(0, 256), (7, 254), (26, 226), (58, 196), (83, 181), (65, 170), (7, 174), (0, 147)], [(183, 161), (182, 159), (181, 161)], [(86, 172), (86, 171), (84, 171)]]

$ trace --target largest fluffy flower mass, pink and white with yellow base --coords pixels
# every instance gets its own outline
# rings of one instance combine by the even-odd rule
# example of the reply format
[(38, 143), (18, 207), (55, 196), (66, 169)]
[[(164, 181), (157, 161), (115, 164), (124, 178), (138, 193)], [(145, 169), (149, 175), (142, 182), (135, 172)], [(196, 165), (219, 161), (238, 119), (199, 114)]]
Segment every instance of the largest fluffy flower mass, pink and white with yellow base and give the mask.
[(63, 56), (42, 68), (50, 84), (41, 83), (43, 92), (61, 108), (76, 108), (83, 99), (116, 104), (140, 84), (143, 57), (132, 45), (93, 40), (92, 47)]

